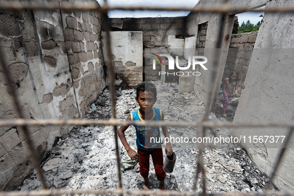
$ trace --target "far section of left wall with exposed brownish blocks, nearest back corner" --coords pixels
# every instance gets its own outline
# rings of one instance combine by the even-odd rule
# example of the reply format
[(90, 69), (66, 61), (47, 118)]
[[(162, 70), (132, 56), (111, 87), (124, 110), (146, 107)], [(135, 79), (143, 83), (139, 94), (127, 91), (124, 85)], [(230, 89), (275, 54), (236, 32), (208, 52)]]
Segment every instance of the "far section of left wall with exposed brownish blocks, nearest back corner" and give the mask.
[(70, 10), (63, 12), (62, 20), (78, 108), (85, 114), (105, 87), (100, 15), (94, 10)]

